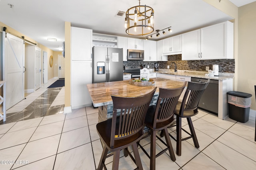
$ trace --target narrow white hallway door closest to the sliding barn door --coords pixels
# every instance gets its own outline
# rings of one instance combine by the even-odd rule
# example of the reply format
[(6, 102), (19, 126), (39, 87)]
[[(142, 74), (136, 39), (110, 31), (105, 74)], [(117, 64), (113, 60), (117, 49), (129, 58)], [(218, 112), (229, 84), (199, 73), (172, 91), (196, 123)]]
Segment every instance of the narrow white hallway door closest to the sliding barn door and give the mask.
[(35, 49), (35, 90), (41, 87), (41, 49)]

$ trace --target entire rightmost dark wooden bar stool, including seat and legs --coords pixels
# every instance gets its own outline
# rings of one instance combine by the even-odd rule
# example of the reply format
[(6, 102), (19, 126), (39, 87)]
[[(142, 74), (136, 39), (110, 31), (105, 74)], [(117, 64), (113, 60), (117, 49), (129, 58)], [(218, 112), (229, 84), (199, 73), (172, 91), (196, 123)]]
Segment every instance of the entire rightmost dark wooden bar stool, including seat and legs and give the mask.
[[(210, 79), (207, 82), (188, 82), (188, 87), (184, 94), (182, 102), (178, 102), (175, 110), (176, 115), (176, 132), (177, 137), (176, 139), (171, 135), (174, 140), (176, 140), (176, 153), (180, 156), (181, 155), (181, 141), (193, 138), (194, 145), (196, 148), (199, 148), (198, 140), (196, 138), (196, 133), (194, 130), (194, 126), (191, 120), (191, 117), (198, 113), (198, 103), (199, 100), (204, 93), (204, 90), (208, 86)], [(187, 118), (188, 126), (190, 129), (190, 133), (184, 130), (181, 126), (181, 118)], [(190, 136), (181, 139), (181, 130), (188, 133)]]

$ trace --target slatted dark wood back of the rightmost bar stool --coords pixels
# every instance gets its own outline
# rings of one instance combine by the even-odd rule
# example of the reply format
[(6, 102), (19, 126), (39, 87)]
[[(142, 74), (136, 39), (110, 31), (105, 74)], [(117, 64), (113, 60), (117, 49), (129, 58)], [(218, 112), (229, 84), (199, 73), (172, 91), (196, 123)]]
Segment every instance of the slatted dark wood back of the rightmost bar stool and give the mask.
[(207, 82), (188, 82), (188, 87), (184, 94), (179, 115), (183, 115), (184, 111), (194, 111), (198, 113), (198, 104), (204, 90), (208, 86), (210, 79)]

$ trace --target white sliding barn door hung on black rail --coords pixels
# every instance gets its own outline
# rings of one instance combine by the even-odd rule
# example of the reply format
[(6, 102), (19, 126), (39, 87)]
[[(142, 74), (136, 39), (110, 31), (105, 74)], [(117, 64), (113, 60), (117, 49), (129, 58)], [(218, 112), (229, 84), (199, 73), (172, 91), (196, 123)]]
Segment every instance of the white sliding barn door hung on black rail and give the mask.
[(25, 43), (3, 31), (3, 80), (6, 81), (6, 109), (24, 99)]

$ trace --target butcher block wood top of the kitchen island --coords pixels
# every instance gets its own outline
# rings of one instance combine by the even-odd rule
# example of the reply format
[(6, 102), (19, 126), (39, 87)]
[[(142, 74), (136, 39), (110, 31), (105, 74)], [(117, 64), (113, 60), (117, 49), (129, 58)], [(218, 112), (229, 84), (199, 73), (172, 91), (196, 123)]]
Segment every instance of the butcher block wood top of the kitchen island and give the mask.
[[(151, 92), (154, 87), (162, 88), (178, 88), (181, 87), (184, 82), (169, 80), (165, 78), (152, 78), (155, 81), (154, 86), (134, 86), (129, 84), (129, 80), (117, 81), (117, 82), (104, 82), (87, 84), (92, 103), (94, 107), (113, 104), (111, 95), (124, 96), (124, 97), (136, 97)], [(156, 89), (156, 93), (159, 89)]]

